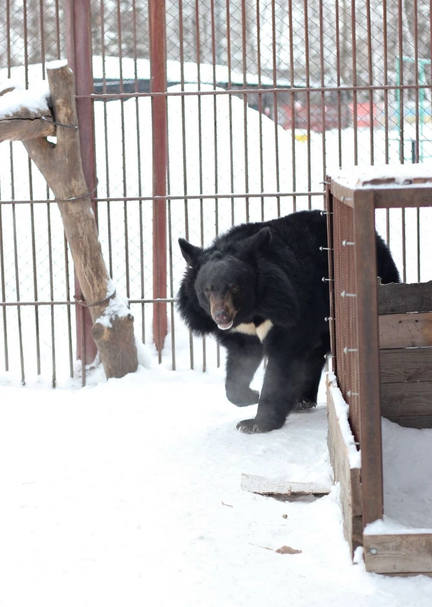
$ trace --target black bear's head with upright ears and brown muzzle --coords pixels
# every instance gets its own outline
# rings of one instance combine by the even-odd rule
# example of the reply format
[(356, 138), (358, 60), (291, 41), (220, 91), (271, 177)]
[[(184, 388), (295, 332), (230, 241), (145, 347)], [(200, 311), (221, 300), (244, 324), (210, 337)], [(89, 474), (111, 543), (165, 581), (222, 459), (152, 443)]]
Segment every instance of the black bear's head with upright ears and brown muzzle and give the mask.
[(201, 308), (217, 327), (250, 322), (256, 310), (257, 253), (268, 247), (271, 231), (262, 228), (248, 238), (240, 239), (226, 252), (217, 248), (204, 250), (179, 238), (183, 257), (195, 272), (194, 289)]

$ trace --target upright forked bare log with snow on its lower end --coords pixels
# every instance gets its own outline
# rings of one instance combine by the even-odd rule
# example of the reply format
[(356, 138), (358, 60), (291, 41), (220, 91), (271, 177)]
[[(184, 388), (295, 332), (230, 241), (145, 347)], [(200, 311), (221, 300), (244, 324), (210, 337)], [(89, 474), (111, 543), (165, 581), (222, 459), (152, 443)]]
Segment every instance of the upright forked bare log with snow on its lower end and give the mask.
[[(11, 138), (22, 140), (55, 194), (85, 305), (94, 322), (92, 336), (103, 369), (107, 378), (123, 377), (138, 368), (134, 317), (127, 302), (115, 293), (103, 261), (90, 193), (82, 171), (73, 73), (66, 62), (48, 64), (47, 73), (57, 143), (50, 143), (43, 133), (38, 138), (28, 138), (29, 120), (15, 120), (15, 128), (20, 131)], [(44, 121), (34, 122), (46, 128)]]

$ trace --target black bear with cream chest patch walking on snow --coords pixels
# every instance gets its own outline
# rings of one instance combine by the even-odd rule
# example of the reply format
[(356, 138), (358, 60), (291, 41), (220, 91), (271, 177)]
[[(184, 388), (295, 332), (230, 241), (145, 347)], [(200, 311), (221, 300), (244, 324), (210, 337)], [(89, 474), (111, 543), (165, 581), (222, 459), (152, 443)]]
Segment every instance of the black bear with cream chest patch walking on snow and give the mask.
[[(178, 310), (197, 335), (213, 334), (227, 350), (226, 397), (237, 406), (258, 403), (243, 432), (283, 426), (295, 407), (317, 402), (324, 356), (330, 349), (326, 219), (318, 210), (242, 224), (209, 248), (179, 238), (187, 270)], [(377, 235), (382, 283), (398, 283), (396, 265)], [(250, 382), (268, 358), (261, 394)]]

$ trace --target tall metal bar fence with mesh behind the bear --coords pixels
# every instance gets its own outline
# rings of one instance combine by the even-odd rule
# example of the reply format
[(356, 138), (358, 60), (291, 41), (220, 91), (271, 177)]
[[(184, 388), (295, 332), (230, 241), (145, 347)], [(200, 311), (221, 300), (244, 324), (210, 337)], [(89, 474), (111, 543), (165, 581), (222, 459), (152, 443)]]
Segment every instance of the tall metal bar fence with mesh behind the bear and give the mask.
[[(426, 0), (6, 0), (0, 24), (0, 80), (27, 87), (67, 50), (106, 263), (173, 369), (221, 362), (176, 316), (178, 236), (322, 208), (331, 167), (432, 155)], [(57, 207), (20, 143), (0, 160), (1, 378), (84, 381), (95, 350)], [(410, 252), (431, 232), (415, 213), (377, 214), (404, 280), (432, 266)]]

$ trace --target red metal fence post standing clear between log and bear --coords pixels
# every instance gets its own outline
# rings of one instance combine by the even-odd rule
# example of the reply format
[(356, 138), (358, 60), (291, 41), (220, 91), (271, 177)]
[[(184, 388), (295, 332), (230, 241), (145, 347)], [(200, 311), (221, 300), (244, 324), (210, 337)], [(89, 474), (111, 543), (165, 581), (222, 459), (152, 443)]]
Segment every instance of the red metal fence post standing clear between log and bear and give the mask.
[[(166, 92), (165, 0), (150, 0), (151, 90)], [(152, 97), (153, 131), (153, 297), (166, 298), (166, 167), (168, 163), (168, 124), (166, 97)], [(153, 305), (153, 338), (159, 352), (168, 332), (166, 304)]]

